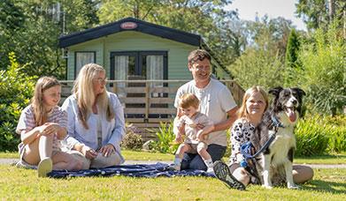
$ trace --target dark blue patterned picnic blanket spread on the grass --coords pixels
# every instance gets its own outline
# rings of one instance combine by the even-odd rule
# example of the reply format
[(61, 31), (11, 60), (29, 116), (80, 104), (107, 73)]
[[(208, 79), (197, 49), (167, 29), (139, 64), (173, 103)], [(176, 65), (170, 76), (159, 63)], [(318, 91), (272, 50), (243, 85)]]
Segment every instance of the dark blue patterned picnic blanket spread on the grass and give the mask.
[(79, 171), (53, 170), (49, 176), (52, 178), (78, 177), (78, 176), (114, 176), (127, 175), (134, 177), (158, 177), (158, 176), (214, 176), (203, 170), (188, 169), (173, 171), (168, 164), (138, 164), (120, 165), (98, 169), (84, 169)]

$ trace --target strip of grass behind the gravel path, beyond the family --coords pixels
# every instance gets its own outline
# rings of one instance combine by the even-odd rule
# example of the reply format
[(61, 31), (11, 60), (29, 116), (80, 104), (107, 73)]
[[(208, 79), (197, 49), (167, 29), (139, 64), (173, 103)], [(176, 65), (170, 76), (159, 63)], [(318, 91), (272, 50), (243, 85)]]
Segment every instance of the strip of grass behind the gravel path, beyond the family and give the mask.
[[(173, 160), (173, 155), (169, 153), (146, 153), (129, 150), (124, 150), (122, 153), (126, 160)], [(18, 157), (18, 153), (0, 153), (0, 159), (13, 159)], [(228, 161), (227, 157), (223, 160)], [(346, 153), (296, 157), (294, 162), (297, 164), (345, 164)]]

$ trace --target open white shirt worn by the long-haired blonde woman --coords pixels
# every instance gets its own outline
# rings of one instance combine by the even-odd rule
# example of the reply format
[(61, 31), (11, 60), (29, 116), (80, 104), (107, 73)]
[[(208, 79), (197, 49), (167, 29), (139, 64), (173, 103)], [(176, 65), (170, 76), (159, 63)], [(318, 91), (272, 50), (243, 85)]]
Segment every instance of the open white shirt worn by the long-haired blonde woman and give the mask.
[(102, 130), (102, 145), (111, 144), (114, 145), (115, 150), (119, 153), (121, 163), (124, 159), (120, 153), (120, 142), (126, 133), (124, 109), (120, 104), (120, 101), (115, 93), (107, 92), (108, 98), (111, 101), (111, 107), (114, 110), (115, 117), (110, 122), (107, 121), (105, 112), (103, 113), (97, 108), (98, 114), (91, 113), (88, 116), (88, 130), (85, 129), (78, 117), (78, 106), (75, 95), (69, 96), (61, 108), (67, 112), (67, 146), (72, 149), (74, 145), (81, 143), (88, 145), (94, 150), (97, 150), (97, 131), (98, 123), (101, 120)]

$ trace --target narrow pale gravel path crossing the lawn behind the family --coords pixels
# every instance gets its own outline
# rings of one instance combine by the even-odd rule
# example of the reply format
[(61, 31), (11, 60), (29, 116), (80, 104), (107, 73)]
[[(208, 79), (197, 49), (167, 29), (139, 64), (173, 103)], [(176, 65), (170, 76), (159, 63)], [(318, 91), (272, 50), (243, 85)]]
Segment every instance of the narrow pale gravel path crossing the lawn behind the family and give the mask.
[[(16, 163), (18, 159), (0, 159), (0, 165), (13, 164)], [(157, 161), (157, 160), (126, 160), (124, 164), (153, 164), (157, 162), (172, 163), (172, 161)], [(303, 164), (300, 164), (303, 165)], [(316, 168), (346, 168), (346, 164), (304, 164), (304, 166), (309, 166), (314, 169)]]

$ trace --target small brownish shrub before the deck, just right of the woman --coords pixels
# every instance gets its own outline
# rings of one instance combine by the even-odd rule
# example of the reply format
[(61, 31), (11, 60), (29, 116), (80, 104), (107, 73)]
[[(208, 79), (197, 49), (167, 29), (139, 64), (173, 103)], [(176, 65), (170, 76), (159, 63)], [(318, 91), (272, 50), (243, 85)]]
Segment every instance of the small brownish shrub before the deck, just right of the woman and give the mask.
[(142, 136), (136, 133), (136, 128), (133, 124), (126, 124), (127, 133), (121, 141), (121, 147), (129, 150), (142, 149)]

